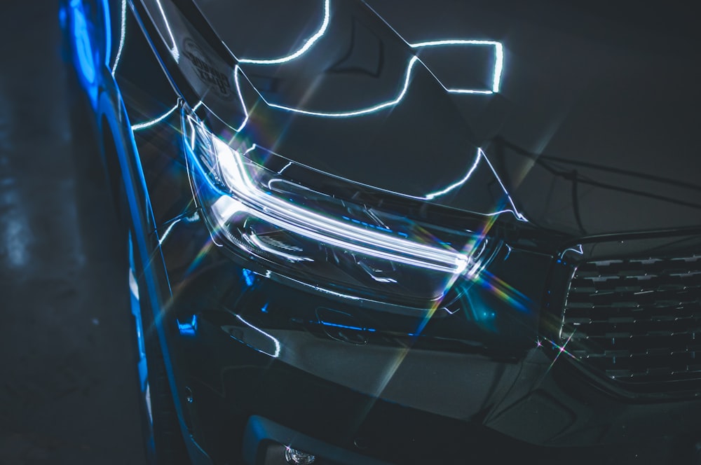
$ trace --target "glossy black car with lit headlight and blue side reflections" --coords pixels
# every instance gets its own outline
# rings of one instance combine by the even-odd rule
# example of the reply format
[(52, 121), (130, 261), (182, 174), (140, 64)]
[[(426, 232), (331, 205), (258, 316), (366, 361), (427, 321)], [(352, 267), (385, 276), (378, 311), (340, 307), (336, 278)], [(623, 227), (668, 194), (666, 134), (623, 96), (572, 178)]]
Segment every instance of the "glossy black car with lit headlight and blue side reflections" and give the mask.
[(700, 463), (691, 33), (547, 6), (62, 3), (153, 463)]

